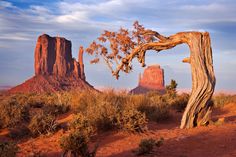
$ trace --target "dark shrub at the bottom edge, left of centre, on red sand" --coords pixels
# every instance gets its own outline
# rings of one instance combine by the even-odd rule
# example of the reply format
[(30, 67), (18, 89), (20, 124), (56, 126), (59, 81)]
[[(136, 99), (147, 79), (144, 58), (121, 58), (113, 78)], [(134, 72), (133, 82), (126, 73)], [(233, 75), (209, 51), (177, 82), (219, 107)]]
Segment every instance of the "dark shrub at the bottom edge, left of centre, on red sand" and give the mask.
[(74, 157), (94, 157), (97, 146), (92, 152), (88, 149), (89, 139), (80, 131), (70, 133), (68, 136), (63, 136), (60, 140), (60, 146), (63, 150), (63, 155), (71, 154)]

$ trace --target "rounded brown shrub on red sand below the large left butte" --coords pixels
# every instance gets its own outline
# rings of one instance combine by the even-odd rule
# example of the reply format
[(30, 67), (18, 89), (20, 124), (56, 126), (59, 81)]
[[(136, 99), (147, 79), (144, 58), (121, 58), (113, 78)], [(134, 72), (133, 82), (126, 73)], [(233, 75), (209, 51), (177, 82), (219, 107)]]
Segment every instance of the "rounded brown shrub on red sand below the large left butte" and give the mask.
[(57, 128), (56, 118), (40, 112), (32, 117), (28, 128), (34, 136), (54, 132)]

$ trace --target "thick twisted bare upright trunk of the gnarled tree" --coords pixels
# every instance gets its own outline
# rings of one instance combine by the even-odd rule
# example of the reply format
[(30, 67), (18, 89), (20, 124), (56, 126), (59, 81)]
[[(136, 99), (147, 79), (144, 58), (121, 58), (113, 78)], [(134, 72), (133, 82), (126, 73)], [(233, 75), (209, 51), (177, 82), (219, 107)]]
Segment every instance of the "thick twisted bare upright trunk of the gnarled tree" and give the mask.
[(180, 128), (206, 125), (211, 113), (210, 100), (215, 88), (211, 42), (208, 33), (190, 33), (192, 92)]

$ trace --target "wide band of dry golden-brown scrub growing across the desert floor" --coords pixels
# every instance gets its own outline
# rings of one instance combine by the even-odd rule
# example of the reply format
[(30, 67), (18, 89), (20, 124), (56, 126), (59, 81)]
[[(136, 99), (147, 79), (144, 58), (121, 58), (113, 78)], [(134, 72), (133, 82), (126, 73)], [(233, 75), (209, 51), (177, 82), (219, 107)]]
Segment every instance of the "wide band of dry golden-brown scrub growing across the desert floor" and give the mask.
[[(54, 133), (57, 131), (56, 119), (70, 111), (75, 116), (68, 123), (69, 130), (65, 130), (69, 136), (61, 141), (62, 148), (73, 151), (75, 148), (70, 147), (70, 143), (75, 138), (81, 140), (75, 145), (82, 149), (75, 151), (85, 150), (88, 153), (86, 145), (91, 136), (110, 130), (145, 132), (148, 122), (166, 122), (173, 111), (183, 112), (188, 99), (188, 94), (160, 95), (150, 92), (146, 95), (129, 95), (127, 92), (112, 90), (103, 93), (71, 91), (40, 95), (2, 95), (0, 126), (13, 130), (10, 136), (12, 138), (30, 136), (28, 131), (33, 136)], [(221, 94), (214, 96), (212, 102), (214, 107), (222, 107), (227, 103), (236, 103), (236, 96)], [(22, 124), (22, 132), (14, 132), (12, 127), (20, 128)], [(148, 142), (150, 141), (146, 141)], [(146, 143), (144, 141), (145, 146)]]

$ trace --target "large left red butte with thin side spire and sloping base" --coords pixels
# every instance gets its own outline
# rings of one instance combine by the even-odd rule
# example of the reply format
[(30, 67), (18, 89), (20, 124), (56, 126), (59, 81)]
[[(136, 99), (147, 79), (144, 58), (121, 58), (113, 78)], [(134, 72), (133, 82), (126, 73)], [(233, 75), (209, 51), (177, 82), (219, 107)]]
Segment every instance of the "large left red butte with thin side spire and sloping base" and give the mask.
[(56, 92), (94, 89), (85, 79), (83, 47), (78, 61), (72, 58), (71, 41), (63, 37), (38, 37), (34, 53), (35, 76), (9, 90), (10, 93)]

